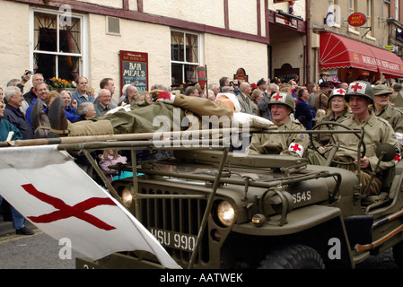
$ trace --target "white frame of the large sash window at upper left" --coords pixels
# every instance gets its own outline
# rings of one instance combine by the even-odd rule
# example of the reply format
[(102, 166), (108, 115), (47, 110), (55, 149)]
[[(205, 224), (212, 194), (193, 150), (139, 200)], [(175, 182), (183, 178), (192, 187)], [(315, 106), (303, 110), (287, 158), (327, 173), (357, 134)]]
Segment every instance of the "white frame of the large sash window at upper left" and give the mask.
[[(89, 73), (89, 58), (88, 58), (88, 16), (86, 14), (79, 14), (79, 13), (72, 13), (72, 16), (76, 18), (80, 18), (80, 29), (81, 29), (81, 54), (72, 54), (72, 53), (60, 53), (60, 52), (48, 52), (48, 51), (38, 51), (35, 50), (34, 45), (35, 45), (35, 35), (34, 35), (34, 29), (35, 29), (35, 17), (34, 13), (48, 13), (48, 14), (53, 14), (53, 15), (61, 15), (63, 12), (58, 12), (55, 10), (48, 10), (48, 9), (39, 9), (35, 7), (30, 7), (30, 67), (31, 71), (33, 71), (33, 65), (34, 65), (34, 54), (48, 54), (48, 55), (55, 55), (55, 56), (74, 56), (74, 57), (80, 57), (80, 71), (79, 71), (79, 76), (85, 76), (88, 78), (88, 73)], [(57, 27), (59, 22), (59, 17), (57, 17)], [(59, 34), (57, 33), (57, 38)], [(57, 45), (59, 44), (59, 41), (57, 40)], [(58, 50), (58, 48), (57, 48)], [(57, 65), (56, 61), (56, 65)], [(56, 66), (56, 71), (58, 67)], [(55, 75), (56, 76), (56, 75)]]

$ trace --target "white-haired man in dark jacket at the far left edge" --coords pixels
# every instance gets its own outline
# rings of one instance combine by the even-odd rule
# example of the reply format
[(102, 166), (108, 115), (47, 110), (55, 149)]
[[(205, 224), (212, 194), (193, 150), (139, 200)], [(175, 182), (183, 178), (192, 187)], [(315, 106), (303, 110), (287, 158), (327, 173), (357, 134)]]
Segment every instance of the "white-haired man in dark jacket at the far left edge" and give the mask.
[(7, 100), (7, 105), (3, 118), (20, 130), (24, 140), (33, 138), (32, 127), (20, 109), (23, 100), (21, 90), (14, 86), (7, 87), (4, 91), (4, 98)]

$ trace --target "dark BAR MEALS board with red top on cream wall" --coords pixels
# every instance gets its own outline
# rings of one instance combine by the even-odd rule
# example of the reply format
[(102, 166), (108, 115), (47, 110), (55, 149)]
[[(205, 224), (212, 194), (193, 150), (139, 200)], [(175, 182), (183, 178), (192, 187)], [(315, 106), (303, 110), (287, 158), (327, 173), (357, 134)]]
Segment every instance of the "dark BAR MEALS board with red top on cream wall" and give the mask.
[(133, 84), (137, 91), (148, 91), (148, 54), (120, 51), (120, 83)]

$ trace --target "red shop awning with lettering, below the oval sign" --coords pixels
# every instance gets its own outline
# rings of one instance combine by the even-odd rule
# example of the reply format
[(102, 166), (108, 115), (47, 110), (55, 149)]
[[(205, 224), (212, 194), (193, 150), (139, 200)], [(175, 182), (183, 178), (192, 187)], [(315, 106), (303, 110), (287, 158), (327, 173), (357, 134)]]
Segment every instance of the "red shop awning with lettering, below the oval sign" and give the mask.
[(389, 50), (334, 33), (320, 33), (320, 65), (323, 69), (354, 67), (403, 78), (403, 61)]

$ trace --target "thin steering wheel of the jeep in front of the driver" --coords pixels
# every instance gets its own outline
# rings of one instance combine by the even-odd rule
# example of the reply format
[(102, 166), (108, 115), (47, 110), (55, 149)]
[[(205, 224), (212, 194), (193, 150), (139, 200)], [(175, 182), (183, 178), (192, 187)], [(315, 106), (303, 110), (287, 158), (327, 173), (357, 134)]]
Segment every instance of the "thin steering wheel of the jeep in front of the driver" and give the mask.
[[(331, 146), (331, 149), (327, 149), (326, 151), (319, 151), (318, 148), (317, 148), (317, 147), (315, 146), (315, 144), (313, 143), (312, 136), (310, 136), (311, 145), (312, 145), (313, 149), (314, 149), (316, 152), (318, 152), (323, 158), (325, 158), (325, 159), (327, 160), (327, 162), (329, 161), (329, 157), (330, 157), (331, 162), (333, 162), (333, 163), (335, 163), (335, 164), (339, 164), (339, 165), (350, 165), (350, 164), (353, 164), (354, 161), (355, 161), (354, 159), (352, 159), (351, 161), (335, 161), (335, 160), (333, 159), (335, 153), (337, 152), (339, 143), (338, 143), (338, 141), (335, 140), (335, 138), (334, 138), (334, 136), (333, 136), (334, 134), (332, 134), (331, 131), (335, 129), (335, 126), (341, 126), (341, 127), (345, 128), (346, 130), (350, 130), (350, 131), (352, 131), (352, 130), (354, 130), (354, 129), (351, 128), (351, 127), (349, 127), (349, 126), (346, 126), (346, 125), (337, 123), (337, 122), (328, 122), (328, 121), (325, 121), (325, 122), (321, 122), (320, 124), (318, 124), (318, 125), (316, 125), (316, 126), (313, 126), (313, 127), (312, 127), (312, 131), (313, 131), (313, 130), (316, 130), (316, 129), (320, 129), (320, 126), (328, 126), (329, 135), (330, 135), (330, 138), (331, 138), (331, 140), (330, 140), (330, 142), (328, 143), (328, 145)], [(326, 133), (326, 135), (328, 135), (328, 134)], [(364, 143), (364, 141), (362, 141), (361, 135), (359, 135), (359, 134), (357, 134), (357, 133), (354, 133), (354, 135), (355, 135), (356, 137), (358, 137), (358, 139), (360, 140), (360, 142), (362, 142), (363, 148), (362, 148), (362, 151), (361, 151), (361, 156), (364, 156), (364, 154), (365, 154), (365, 152), (366, 152), (365, 143)], [(346, 148), (346, 147), (344, 147), (344, 149), (349, 150), (349, 151), (353, 151), (353, 152), (355, 152), (355, 153), (358, 153), (358, 147), (359, 147), (359, 145), (357, 146), (357, 149), (351, 149), (351, 148)]]

